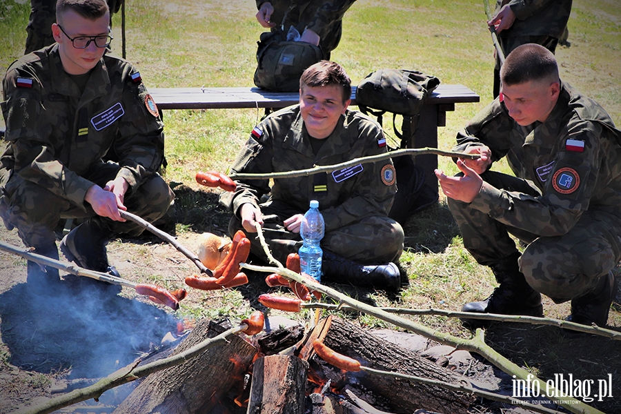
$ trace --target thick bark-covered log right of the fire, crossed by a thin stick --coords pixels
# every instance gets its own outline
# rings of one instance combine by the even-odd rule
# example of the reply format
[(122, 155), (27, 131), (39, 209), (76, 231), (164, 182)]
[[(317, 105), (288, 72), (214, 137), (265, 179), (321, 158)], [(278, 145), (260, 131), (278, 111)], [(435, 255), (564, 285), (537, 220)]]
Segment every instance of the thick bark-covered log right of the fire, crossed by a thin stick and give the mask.
[[(375, 337), (353, 324), (333, 317), (324, 343), (337, 353), (358, 359), (362, 366), (430, 378), (458, 385), (462, 376), (438, 366), (417, 353)], [(415, 384), (371, 372), (346, 373), (382, 395), (395, 411), (413, 413), (426, 408), (440, 413), (466, 413), (474, 397), (469, 393), (451, 391), (439, 386)]]

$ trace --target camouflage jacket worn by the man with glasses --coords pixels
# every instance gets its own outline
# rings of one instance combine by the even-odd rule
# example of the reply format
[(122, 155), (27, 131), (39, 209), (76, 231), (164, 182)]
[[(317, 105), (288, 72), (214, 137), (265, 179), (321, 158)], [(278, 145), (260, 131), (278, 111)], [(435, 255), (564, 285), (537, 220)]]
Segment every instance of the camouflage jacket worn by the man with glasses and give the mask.
[(0, 188), (19, 174), (83, 206), (93, 183), (81, 177), (108, 150), (135, 190), (164, 157), (164, 125), (139, 72), (103, 55), (81, 94), (63, 70), (58, 45), (12, 63), (3, 79), (8, 147), (0, 158)]

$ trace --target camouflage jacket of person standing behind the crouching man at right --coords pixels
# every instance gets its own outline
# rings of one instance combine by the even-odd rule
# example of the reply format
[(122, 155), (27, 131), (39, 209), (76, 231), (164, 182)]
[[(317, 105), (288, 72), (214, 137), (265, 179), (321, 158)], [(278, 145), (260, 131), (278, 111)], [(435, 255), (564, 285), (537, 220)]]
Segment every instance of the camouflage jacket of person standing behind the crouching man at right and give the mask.
[(551, 36), (560, 38), (569, 20), (572, 0), (497, 0), (496, 12), (509, 3), (515, 23), (498, 37)]

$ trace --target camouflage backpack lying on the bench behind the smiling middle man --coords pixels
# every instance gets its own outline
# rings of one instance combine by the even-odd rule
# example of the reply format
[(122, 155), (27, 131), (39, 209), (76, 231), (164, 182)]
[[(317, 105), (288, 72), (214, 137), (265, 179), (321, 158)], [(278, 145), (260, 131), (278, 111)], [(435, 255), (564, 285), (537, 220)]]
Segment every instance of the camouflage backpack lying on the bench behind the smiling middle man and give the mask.
[[(414, 124), (417, 124), (426, 97), (438, 85), (440, 79), (417, 70), (380, 69), (368, 74), (358, 84), (356, 104), (362, 113), (375, 115), (380, 125), (386, 112), (393, 113), (393, 126), (396, 115), (413, 117)], [(394, 130), (401, 139), (401, 148), (405, 148), (404, 137), (397, 128)]]

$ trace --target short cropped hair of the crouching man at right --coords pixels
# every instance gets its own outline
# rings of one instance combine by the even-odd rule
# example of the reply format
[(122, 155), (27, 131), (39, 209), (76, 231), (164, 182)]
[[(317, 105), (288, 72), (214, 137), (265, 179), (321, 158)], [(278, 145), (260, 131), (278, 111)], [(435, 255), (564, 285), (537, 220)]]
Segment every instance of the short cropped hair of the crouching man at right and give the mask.
[(500, 81), (506, 86), (547, 78), (558, 81), (558, 65), (553, 53), (536, 43), (515, 48), (500, 68)]

